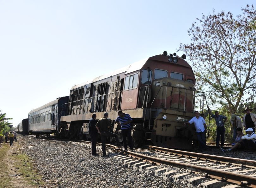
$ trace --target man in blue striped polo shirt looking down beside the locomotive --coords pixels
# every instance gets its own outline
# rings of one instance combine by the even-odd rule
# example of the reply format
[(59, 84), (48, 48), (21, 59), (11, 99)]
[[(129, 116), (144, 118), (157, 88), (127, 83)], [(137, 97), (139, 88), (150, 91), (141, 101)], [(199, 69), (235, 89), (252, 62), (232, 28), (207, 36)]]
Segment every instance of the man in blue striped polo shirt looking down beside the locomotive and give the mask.
[(131, 150), (133, 150), (133, 143), (131, 137), (131, 116), (128, 113), (123, 113), (121, 110), (118, 112), (118, 117), (115, 123), (121, 126), (121, 132), (123, 136), (124, 149), (127, 150), (126, 138), (128, 137), (128, 143)]

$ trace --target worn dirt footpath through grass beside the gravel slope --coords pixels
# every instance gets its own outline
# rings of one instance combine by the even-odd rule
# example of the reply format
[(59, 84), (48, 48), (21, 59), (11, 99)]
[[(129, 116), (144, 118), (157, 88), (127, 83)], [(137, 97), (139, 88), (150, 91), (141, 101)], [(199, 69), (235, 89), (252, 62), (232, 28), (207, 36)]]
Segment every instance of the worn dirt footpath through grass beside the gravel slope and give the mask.
[(10, 146), (9, 142), (8, 143), (4, 142), (3, 144), (6, 144), (6, 145), (8, 144), (6, 157), (3, 158), (3, 164), (7, 166), (4, 174), (5, 176), (8, 175), (9, 180), (11, 181), (10, 186), (8, 187), (15, 187), (15, 188), (38, 187), (38, 186), (28, 185), (24, 177), (22, 176), (22, 174), (20, 174), (18, 170), (19, 168), (15, 166), (17, 159), (14, 156), (19, 155), (21, 153), (18, 150), (20, 148), (18, 142), (13, 142), (13, 146)]

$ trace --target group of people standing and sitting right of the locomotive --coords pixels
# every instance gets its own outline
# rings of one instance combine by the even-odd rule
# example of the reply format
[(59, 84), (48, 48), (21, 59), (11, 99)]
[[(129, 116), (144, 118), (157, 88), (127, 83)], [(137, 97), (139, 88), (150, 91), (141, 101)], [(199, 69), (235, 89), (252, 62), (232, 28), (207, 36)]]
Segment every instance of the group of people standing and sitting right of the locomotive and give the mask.
[[(233, 141), (234, 144), (231, 148), (224, 150), (222, 147), (224, 146), (224, 137), (225, 137), (225, 126), (224, 124), (227, 122), (227, 117), (223, 115), (219, 115), (218, 111), (215, 111), (214, 114), (211, 113), (209, 106), (207, 106), (208, 112), (210, 113), (211, 117), (216, 121), (216, 147), (219, 147), (219, 141), (221, 141), (221, 150), (223, 152), (227, 151), (230, 152), (234, 149), (238, 148), (246, 148), (249, 150), (256, 150), (256, 134), (255, 127), (256, 127), (256, 115), (251, 113), (253, 109), (246, 107), (243, 111), (245, 115), (241, 118), (235, 114), (231, 115), (230, 122), (233, 126), (234, 133), (233, 133)], [(201, 150), (207, 150), (206, 142), (205, 142), (205, 135), (207, 132), (207, 127), (205, 124), (205, 120), (203, 117), (199, 116), (199, 112), (195, 111), (195, 117), (190, 119), (189, 121), (185, 122), (186, 124), (194, 123), (196, 128), (196, 135), (198, 141), (200, 143)], [(243, 134), (243, 129), (246, 131), (246, 135)]]

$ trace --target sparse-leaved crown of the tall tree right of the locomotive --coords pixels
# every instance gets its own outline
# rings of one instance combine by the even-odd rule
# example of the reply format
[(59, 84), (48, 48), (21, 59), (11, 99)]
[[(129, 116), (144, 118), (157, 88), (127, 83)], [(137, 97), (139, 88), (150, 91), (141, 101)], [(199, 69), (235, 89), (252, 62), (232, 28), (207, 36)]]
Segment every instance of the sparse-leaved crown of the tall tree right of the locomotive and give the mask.
[[(242, 14), (205, 16), (189, 29), (190, 44), (180, 44), (192, 62), (197, 90), (207, 92), (211, 104), (227, 106), (229, 114), (253, 102), (256, 93), (256, 10)], [(249, 96), (249, 97), (248, 97)]]

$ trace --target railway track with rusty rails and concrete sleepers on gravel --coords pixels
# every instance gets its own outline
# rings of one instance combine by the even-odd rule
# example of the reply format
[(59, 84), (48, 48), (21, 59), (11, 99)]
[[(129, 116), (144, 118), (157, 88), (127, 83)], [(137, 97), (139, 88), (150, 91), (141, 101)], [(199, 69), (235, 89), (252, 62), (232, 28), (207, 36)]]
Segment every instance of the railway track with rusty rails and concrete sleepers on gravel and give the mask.
[[(52, 138), (44, 138), (52, 139)], [(57, 139), (54, 141), (65, 141), (81, 147), (91, 148), (89, 141), (66, 141)], [(208, 155), (202, 153), (186, 152), (174, 149), (167, 149), (155, 146), (143, 146), (135, 151), (118, 149), (106, 144), (107, 155), (120, 161), (127, 167), (134, 170), (153, 171), (155, 176), (163, 174), (163, 179), (180, 179), (196, 174), (196, 177), (187, 180), (187, 185), (201, 188), (209, 187), (256, 187), (256, 161), (227, 158), (222, 156)], [(97, 150), (101, 151), (101, 143), (97, 143)], [(168, 168), (161, 168), (165, 164), (187, 170), (187, 173), (179, 173), (177, 170), (168, 171)], [(211, 180), (210, 180), (211, 179)]]

